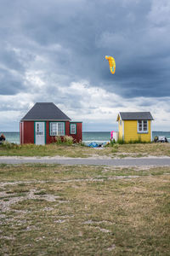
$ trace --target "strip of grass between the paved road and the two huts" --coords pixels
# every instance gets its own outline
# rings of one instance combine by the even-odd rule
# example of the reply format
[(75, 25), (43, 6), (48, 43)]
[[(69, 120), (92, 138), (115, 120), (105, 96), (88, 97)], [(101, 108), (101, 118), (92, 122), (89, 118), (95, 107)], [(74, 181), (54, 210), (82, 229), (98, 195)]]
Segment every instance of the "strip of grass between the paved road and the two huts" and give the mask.
[(170, 143), (136, 143), (136, 144), (115, 144), (113, 147), (89, 148), (79, 144), (71, 146), (48, 144), (37, 146), (34, 144), (7, 144), (0, 145), (0, 156), (65, 156), (65, 157), (144, 157), (153, 156), (170, 156)]

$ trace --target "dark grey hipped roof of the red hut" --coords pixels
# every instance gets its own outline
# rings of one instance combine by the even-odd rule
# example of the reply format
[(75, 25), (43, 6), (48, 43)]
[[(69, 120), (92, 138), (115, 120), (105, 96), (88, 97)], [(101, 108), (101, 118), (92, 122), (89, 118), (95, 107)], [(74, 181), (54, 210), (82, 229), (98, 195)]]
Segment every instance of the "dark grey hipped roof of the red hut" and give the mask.
[(53, 102), (37, 102), (23, 120), (71, 120)]

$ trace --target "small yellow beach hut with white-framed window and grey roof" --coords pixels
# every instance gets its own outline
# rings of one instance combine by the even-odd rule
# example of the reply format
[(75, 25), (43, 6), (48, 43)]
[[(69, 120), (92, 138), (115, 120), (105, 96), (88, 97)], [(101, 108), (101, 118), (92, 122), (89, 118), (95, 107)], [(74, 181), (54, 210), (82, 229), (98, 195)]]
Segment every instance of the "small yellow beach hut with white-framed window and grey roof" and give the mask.
[(123, 139), (125, 142), (152, 141), (151, 121), (153, 117), (150, 112), (120, 112), (116, 120), (119, 139)]

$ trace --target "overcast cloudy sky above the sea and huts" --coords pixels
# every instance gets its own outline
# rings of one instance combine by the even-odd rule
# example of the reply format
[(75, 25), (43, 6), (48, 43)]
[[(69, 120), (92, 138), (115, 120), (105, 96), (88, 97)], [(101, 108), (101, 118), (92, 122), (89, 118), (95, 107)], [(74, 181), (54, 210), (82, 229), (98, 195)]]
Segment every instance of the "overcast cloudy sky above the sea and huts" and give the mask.
[(120, 111), (170, 131), (170, 1), (0, 0), (0, 131), (19, 131), (36, 102), (83, 131), (116, 130)]

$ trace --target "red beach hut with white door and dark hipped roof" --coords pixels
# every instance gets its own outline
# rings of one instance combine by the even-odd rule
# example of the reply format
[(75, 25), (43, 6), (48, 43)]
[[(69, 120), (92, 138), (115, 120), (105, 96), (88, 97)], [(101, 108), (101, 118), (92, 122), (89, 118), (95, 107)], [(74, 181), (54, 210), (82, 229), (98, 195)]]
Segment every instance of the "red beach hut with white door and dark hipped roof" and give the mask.
[(20, 143), (44, 145), (54, 143), (55, 137), (71, 136), (82, 140), (82, 122), (74, 122), (53, 102), (37, 102), (20, 120)]

